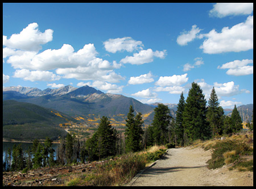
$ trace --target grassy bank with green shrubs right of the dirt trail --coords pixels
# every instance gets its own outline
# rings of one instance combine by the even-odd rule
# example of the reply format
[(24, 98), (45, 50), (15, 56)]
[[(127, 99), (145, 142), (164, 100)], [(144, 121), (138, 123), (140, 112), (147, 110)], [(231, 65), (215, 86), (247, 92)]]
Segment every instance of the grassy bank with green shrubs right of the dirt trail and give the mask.
[(196, 141), (193, 145), (212, 150), (208, 168), (216, 169), (224, 165), (229, 170), (253, 171), (253, 135), (235, 135), (225, 140)]

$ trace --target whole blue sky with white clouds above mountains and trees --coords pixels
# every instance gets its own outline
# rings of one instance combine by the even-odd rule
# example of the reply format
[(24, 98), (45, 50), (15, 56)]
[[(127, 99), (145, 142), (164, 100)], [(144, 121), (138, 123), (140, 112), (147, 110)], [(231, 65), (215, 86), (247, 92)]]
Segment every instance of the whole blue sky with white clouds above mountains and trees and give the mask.
[(253, 3), (3, 3), (3, 87), (253, 103)]

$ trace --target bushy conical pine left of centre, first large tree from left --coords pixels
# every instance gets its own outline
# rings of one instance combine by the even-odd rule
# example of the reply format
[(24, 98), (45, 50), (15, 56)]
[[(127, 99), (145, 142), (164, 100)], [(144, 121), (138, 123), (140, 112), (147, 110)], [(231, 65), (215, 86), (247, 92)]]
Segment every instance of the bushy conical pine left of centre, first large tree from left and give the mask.
[(110, 125), (108, 117), (103, 116), (98, 126), (98, 149), (100, 158), (113, 156), (115, 154), (115, 140), (117, 140), (115, 129)]

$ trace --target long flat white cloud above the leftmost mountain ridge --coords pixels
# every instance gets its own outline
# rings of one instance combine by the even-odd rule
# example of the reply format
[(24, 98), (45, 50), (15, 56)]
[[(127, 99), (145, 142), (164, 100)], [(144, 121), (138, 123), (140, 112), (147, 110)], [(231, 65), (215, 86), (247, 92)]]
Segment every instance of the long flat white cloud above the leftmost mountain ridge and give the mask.
[(15, 78), (23, 78), (28, 81), (55, 81), (60, 79), (60, 75), (48, 71), (30, 71), (27, 69), (15, 70)]

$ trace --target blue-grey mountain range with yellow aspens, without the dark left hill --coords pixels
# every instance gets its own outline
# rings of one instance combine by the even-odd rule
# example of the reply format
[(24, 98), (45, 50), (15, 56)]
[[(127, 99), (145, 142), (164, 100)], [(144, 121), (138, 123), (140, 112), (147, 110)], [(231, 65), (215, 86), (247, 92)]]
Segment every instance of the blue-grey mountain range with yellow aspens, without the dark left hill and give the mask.
[[(69, 116), (69, 120), (75, 119), (87, 126), (95, 126), (102, 116), (108, 116), (110, 123), (116, 127), (125, 126), (130, 105), (133, 105), (136, 113), (142, 113), (145, 125), (151, 124), (154, 118), (154, 108), (159, 104), (143, 104), (134, 98), (103, 93), (93, 87), (76, 88), (71, 85), (45, 90), (33, 87), (5, 87), (3, 88), (3, 101), (5, 100), (16, 100), (50, 108), (58, 111), (59, 114)], [(169, 107), (170, 115), (175, 118), (177, 104), (166, 103), (165, 105)], [(4, 107), (3, 111), (5, 112)], [(237, 109), (243, 121), (251, 120), (253, 104), (240, 106)], [(224, 109), (224, 112), (226, 115), (230, 115), (232, 109)]]

